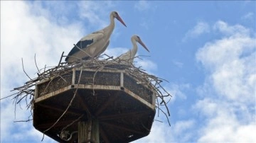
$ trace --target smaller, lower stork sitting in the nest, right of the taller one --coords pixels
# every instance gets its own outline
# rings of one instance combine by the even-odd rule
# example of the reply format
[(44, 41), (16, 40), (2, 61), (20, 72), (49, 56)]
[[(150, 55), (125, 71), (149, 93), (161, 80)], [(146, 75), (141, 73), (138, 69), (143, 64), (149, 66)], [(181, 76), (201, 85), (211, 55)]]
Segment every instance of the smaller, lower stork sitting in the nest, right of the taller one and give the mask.
[(142, 47), (144, 47), (149, 52), (148, 48), (146, 47), (146, 45), (144, 45), (138, 35), (133, 35), (131, 40), (133, 45), (132, 49), (117, 57), (117, 59), (122, 60), (121, 63), (123, 64), (132, 64), (138, 50), (137, 42), (139, 42), (139, 44), (141, 44)]

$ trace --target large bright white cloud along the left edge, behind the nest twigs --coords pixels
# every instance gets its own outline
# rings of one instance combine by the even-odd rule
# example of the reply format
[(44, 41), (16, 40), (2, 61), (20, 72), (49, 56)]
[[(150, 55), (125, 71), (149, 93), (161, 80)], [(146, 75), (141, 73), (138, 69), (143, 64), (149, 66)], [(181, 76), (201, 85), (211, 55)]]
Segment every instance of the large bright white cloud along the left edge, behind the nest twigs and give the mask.
[[(37, 13), (31, 10), (35, 7)], [(22, 71), (21, 57), (28, 75), (34, 77), (35, 53), (39, 68), (45, 64), (55, 65), (61, 52), (67, 55), (72, 47), (70, 43), (80, 38), (79, 24), (61, 27), (49, 21), (45, 12), (38, 3), (1, 1), (1, 98), (28, 80)], [(41, 142), (43, 134), (33, 128), (32, 122), (14, 123), (14, 120), (27, 120), (31, 113), (26, 112), (25, 105), (21, 105), (23, 110), (16, 105), (15, 119), (14, 104), (9, 100), (1, 101), (1, 142), (26, 142), (26, 139)], [(53, 141), (46, 137), (43, 142)]]

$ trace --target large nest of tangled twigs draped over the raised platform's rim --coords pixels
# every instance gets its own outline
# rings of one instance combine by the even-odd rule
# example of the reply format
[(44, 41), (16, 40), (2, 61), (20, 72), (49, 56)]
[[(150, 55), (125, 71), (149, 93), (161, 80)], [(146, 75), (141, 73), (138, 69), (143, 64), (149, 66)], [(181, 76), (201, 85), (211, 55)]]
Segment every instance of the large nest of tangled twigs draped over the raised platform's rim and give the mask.
[[(128, 60), (124, 61), (120, 59), (113, 59), (108, 55), (104, 55), (104, 56), (107, 58), (101, 59), (101, 60), (97, 58), (92, 58), (89, 60), (80, 60), (79, 62), (67, 63), (67, 62), (61, 62), (63, 57), (65, 57), (62, 55), (60, 57), (60, 62), (58, 63), (58, 66), (44, 67), (43, 69), (38, 69), (36, 64), (36, 55), (35, 55), (35, 64), (38, 69), (36, 74), (38, 76), (34, 79), (31, 79), (30, 76), (28, 76), (28, 74), (26, 74), (26, 71), (23, 69), (24, 73), (26, 74), (26, 76), (28, 76), (30, 80), (27, 81), (23, 86), (14, 88), (13, 91), (17, 91), (17, 92), (12, 94), (11, 96), (14, 96), (13, 99), (14, 99), (15, 105), (18, 103), (21, 103), (21, 101), (26, 101), (27, 110), (30, 109), (32, 111), (36, 83), (38, 83), (39, 81), (53, 80), (56, 77), (62, 78), (62, 75), (65, 74), (67, 71), (70, 71), (70, 69), (86, 68), (86, 69), (95, 69), (96, 71), (100, 71), (102, 69), (118, 69), (118, 70), (122, 69), (122, 70), (125, 70), (130, 76), (133, 76), (135, 79), (138, 79), (138, 81), (140, 82), (137, 84), (145, 84), (152, 91), (154, 91), (154, 95), (156, 95), (156, 109), (158, 111), (158, 116), (159, 116), (159, 113), (164, 113), (164, 115), (166, 116), (169, 122), (168, 116), (170, 116), (170, 113), (169, 113), (169, 108), (167, 106), (167, 103), (170, 101), (171, 95), (164, 89), (163, 86), (161, 86), (161, 83), (166, 80), (151, 74), (147, 74), (146, 71), (142, 69), (142, 67), (135, 67), (134, 64), (125, 64), (127, 63)], [(22, 62), (22, 65), (23, 65), (23, 62)], [(11, 97), (11, 96), (7, 96), (7, 97)], [(71, 103), (72, 101), (70, 101), (70, 104)], [(162, 107), (165, 107), (165, 108), (163, 109)], [(63, 113), (63, 115), (64, 114), (65, 113)], [(31, 112), (31, 115), (32, 115), (32, 112)], [(32, 120), (32, 119), (28, 118), (28, 120), (18, 121), (18, 122), (27, 122), (29, 120)], [(169, 122), (169, 125), (170, 125), (170, 122)]]

